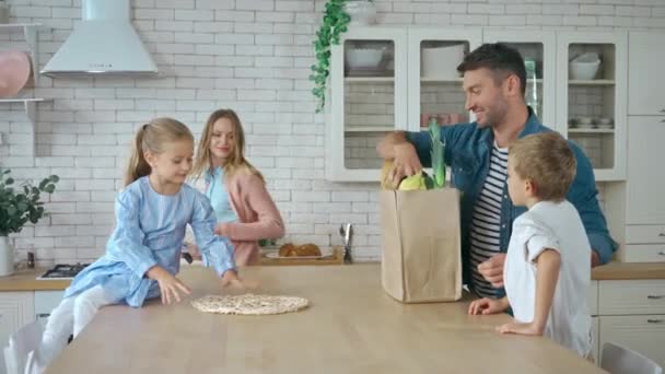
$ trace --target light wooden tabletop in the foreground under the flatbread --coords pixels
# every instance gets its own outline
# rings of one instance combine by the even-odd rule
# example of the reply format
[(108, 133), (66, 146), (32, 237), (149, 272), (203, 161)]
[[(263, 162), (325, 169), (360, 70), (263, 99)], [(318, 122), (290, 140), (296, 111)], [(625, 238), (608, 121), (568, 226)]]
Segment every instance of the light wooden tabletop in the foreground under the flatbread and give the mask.
[(219, 294), (205, 268), (182, 279), (195, 291), (176, 305), (108, 306), (47, 373), (599, 373), (540, 337), (500, 335), (506, 315), (469, 316), (468, 301), (400, 304), (377, 265), (254, 267), (256, 291), (307, 297), (273, 316), (200, 313), (189, 301)]

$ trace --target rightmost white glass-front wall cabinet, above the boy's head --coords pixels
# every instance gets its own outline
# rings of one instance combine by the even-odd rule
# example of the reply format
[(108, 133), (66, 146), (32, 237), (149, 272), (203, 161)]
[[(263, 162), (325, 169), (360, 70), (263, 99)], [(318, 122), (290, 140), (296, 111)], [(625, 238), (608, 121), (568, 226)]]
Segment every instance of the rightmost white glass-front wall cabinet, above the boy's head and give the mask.
[[(585, 151), (597, 180), (622, 180), (626, 178), (628, 34), (560, 32), (557, 45), (558, 129)], [(583, 54), (600, 59), (593, 77), (576, 77), (571, 71), (570, 60)]]

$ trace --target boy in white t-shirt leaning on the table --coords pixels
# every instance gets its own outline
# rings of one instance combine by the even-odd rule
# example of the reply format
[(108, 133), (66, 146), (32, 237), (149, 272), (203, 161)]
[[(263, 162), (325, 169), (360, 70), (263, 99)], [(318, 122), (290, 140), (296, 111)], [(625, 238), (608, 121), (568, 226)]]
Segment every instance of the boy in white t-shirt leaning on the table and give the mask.
[(580, 214), (565, 200), (576, 161), (557, 132), (524, 137), (511, 145), (508, 187), (528, 211), (513, 223), (503, 279), (506, 296), (480, 299), (469, 314), (512, 307), (514, 320), (500, 332), (541, 335), (591, 358), (591, 247)]

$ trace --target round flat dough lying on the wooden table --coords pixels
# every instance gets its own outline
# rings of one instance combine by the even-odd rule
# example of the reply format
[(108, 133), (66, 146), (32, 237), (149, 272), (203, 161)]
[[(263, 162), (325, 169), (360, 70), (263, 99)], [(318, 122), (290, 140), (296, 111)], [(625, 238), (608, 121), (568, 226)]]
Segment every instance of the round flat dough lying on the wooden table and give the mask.
[(310, 305), (307, 299), (296, 296), (207, 295), (191, 302), (200, 312), (241, 315), (269, 315), (298, 312)]

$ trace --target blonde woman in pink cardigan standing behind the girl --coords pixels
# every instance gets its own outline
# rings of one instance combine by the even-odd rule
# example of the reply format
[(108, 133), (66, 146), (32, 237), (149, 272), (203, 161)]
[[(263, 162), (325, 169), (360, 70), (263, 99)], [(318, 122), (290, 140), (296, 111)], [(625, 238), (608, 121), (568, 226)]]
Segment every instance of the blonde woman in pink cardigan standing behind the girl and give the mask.
[[(245, 133), (231, 109), (210, 115), (201, 135), (194, 176), (206, 180), (206, 196), (217, 215), (215, 233), (235, 247), (238, 266), (258, 264), (258, 241), (284, 235), (284, 224), (261, 173), (245, 159)], [(198, 255), (194, 246), (188, 246)]]

